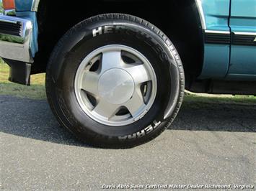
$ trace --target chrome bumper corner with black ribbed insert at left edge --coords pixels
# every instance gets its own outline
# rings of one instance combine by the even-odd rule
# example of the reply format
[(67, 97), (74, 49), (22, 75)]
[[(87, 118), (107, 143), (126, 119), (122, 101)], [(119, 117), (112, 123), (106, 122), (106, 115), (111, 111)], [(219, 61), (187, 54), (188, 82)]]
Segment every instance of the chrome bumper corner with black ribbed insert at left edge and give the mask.
[(32, 63), (32, 28), (28, 19), (0, 16), (0, 57)]

